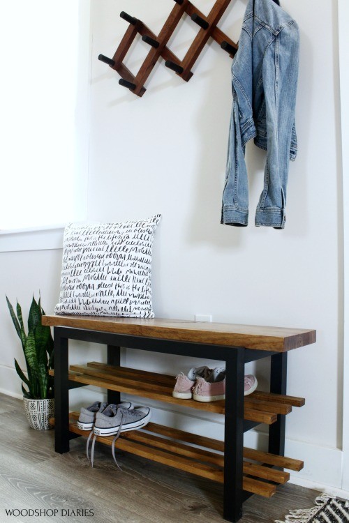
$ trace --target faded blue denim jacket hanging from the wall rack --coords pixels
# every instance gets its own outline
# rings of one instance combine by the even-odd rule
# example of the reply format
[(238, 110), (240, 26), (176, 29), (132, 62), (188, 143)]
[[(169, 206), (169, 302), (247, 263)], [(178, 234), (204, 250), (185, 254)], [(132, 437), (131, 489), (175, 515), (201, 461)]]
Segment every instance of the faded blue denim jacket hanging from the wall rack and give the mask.
[(255, 225), (285, 227), (289, 159), (297, 155), (299, 31), (278, 0), (249, 0), (232, 62), (232, 114), (221, 223), (248, 223), (245, 145), (267, 151)]

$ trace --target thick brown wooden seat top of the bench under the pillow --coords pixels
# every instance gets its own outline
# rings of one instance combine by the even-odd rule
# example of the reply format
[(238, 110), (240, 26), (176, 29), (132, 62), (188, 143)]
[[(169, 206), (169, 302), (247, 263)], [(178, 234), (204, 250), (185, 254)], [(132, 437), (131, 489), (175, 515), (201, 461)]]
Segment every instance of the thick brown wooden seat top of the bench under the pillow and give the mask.
[(204, 323), (166, 318), (54, 314), (43, 316), (43, 325), (275, 352), (297, 349), (316, 341), (316, 331), (309, 329)]

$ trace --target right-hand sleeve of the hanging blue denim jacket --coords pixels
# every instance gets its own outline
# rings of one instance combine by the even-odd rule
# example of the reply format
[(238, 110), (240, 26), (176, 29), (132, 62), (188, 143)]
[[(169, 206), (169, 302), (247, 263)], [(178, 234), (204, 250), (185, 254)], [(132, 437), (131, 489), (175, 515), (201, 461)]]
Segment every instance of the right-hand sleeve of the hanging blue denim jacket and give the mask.
[[(290, 156), (297, 152), (295, 101), (299, 61), (297, 24), (284, 26), (267, 47), (262, 64), (267, 122), (265, 186), (255, 225), (285, 226), (286, 186)], [(292, 146), (291, 146), (292, 142)]]

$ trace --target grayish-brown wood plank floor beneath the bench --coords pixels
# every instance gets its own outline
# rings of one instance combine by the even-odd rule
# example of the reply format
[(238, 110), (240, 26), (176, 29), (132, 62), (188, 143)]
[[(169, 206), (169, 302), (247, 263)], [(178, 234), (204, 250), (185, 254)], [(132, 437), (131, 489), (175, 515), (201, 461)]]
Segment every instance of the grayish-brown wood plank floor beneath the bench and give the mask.
[[(121, 472), (110, 448), (102, 445), (96, 446), (91, 469), (85, 441), (74, 439), (70, 453), (56, 454), (53, 431), (32, 430), (22, 401), (0, 394), (0, 413), (1, 523), (223, 522), (223, 485), (219, 483), (119, 451)], [(313, 506), (317, 495), (296, 485), (280, 486), (272, 499), (248, 499), (240, 521), (283, 520), (290, 509)], [(16, 508), (58, 511), (54, 517), (50, 512), (42, 517), (6, 515), (6, 509)], [(78, 515), (77, 509), (90, 509), (94, 515)]]

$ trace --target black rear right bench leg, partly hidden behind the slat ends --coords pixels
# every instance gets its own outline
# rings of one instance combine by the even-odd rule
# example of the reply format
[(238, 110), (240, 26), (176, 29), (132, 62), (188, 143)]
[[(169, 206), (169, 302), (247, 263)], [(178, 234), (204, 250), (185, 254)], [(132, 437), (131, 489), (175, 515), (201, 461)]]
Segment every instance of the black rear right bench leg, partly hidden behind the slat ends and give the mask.
[[(270, 392), (286, 394), (287, 388), (287, 352), (275, 354), (270, 363)], [(269, 426), (269, 453), (285, 455), (286, 416), (278, 414), (276, 423)]]

